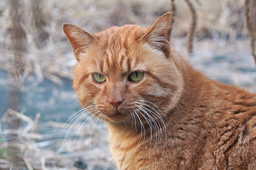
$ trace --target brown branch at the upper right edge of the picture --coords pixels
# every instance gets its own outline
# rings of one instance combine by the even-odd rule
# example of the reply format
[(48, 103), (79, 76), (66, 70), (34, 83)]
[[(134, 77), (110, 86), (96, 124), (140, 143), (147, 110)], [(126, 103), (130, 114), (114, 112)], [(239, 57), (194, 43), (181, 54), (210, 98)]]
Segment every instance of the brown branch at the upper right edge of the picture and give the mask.
[[(255, 1), (253, 1), (253, 3), (255, 3)], [(255, 4), (253, 4), (253, 5), (256, 6)], [(244, 15), (245, 15), (245, 20), (246, 20), (248, 35), (250, 37), (251, 54), (252, 54), (255, 64), (256, 64), (256, 54), (255, 54), (256, 30), (253, 30), (253, 26), (250, 21), (250, 0), (244, 1)]]

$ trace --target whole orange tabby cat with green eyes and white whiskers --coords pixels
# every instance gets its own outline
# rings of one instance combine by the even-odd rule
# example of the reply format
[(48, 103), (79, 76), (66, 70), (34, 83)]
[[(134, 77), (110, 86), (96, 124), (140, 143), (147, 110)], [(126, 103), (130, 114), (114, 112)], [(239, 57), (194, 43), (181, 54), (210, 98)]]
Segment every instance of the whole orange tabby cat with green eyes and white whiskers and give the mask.
[(193, 69), (170, 16), (97, 34), (65, 23), (81, 104), (107, 123), (120, 170), (256, 170), (256, 94)]

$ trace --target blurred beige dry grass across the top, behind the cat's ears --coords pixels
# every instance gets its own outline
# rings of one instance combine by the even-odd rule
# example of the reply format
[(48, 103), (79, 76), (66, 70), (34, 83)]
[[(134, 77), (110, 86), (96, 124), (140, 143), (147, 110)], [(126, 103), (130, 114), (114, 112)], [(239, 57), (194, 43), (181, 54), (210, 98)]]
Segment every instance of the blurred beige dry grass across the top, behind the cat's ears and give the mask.
[[(191, 27), (197, 37), (212, 37), (234, 41), (237, 35), (246, 35), (242, 0), (204, 0), (175, 1), (177, 15), (172, 35), (186, 36), (189, 33), (191, 14), (189, 6), (195, 7), (198, 15), (197, 28)], [(171, 10), (171, 0), (23, 0), (20, 1), (20, 28), (24, 31), (25, 42), (17, 45), (25, 49), (23, 55), (23, 71), (21, 79), (35, 74), (38, 82), (44, 78), (61, 85), (59, 77), (72, 79), (72, 70), (76, 60), (71, 53), (70, 45), (62, 32), (62, 23), (74, 23), (92, 33), (102, 31), (111, 26), (138, 24), (148, 27), (160, 15)], [(194, 12), (195, 12), (194, 11)], [(13, 9), (8, 0), (1, 2), (0, 8), (0, 68), (12, 71), (17, 61), (12, 48)], [(192, 25), (195, 25), (193, 17)], [(192, 41), (193, 34), (189, 35)], [(189, 43), (191, 44), (191, 43)], [(191, 47), (189, 47), (191, 48)], [(192, 48), (191, 48), (192, 49)], [(17, 64), (15, 64), (17, 65)]]

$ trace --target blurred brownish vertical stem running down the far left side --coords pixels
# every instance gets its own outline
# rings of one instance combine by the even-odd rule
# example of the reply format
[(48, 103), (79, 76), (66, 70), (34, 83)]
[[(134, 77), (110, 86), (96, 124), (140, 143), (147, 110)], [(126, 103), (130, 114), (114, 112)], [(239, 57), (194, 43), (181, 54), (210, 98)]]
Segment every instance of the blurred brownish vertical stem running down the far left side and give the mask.
[[(9, 1), (11, 5), (10, 18), (12, 21), (12, 27), (10, 29), (11, 34), (11, 48), (13, 51), (12, 68), (9, 70), (11, 78), (11, 86), (9, 89), (9, 108), (18, 111), (20, 109), (20, 86), (23, 83), (24, 72), (26, 67), (26, 59), (24, 57), (24, 51), (26, 49), (26, 34), (21, 25), (22, 7), (19, 0)], [(12, 119), (9, 122), (9, 128), (14, 130), (20, 127), (20, 119), (17, 115), (10, 115)], [(17, 134), (9, 134), (9, 144), (18, 140)], [(19, 162), (21, 161), (20, 149), (17, 147), (9, 147), (8, 159), (11, 162), (10, 169), (18, 169)]]

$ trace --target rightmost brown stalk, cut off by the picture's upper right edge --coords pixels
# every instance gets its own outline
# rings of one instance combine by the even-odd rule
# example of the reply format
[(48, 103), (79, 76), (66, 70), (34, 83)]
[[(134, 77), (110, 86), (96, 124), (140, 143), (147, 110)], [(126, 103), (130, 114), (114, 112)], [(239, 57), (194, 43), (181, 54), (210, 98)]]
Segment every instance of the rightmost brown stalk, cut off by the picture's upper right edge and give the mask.
[[(246, 19), (246, 26), (248, 30), (248, 34), (250, 37), (250, 47), (251, 47), (251, 54), (254, 58), (255, 64), (256, 64), (256, 51), (255, 51), (255, 41), (256, 41), (256, 13), (254, 11), (253, 16), (250, 16), (252, 13), (251, 8), (253, 10), (256, 10), (256, 0), (253, 0), (250, 2), (250, 0), (244, 1), (244, 15)], [(252, 19), (251, 19), (252, 18)]]

